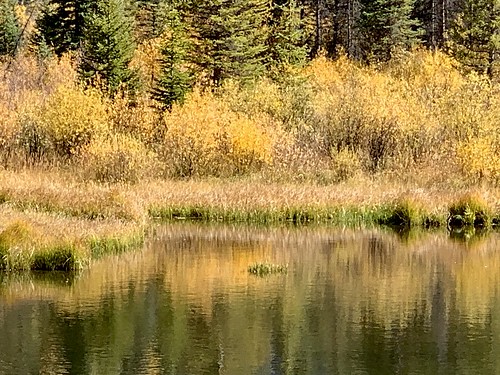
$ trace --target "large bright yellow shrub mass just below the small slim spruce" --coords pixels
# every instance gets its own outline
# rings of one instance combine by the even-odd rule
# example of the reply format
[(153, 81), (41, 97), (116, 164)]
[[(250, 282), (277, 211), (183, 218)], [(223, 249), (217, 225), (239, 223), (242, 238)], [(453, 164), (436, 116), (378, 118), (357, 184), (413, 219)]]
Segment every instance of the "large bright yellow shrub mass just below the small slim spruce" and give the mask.
[(178, 176), (244, 173), (271, 161), (265, 122), (232, 112), (211, 94), (194, 93), (165, 115), (163, 155)]

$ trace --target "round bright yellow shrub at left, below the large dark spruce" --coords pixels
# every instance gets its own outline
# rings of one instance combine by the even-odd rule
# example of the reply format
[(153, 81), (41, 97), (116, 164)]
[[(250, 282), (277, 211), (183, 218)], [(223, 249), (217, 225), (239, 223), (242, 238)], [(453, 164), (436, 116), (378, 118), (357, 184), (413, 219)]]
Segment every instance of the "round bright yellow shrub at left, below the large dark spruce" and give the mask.
[(108, 129), (102, 97), (94, 91), (60, 86), (48, 99), (41, 121), (56, 153), (71, 157)]

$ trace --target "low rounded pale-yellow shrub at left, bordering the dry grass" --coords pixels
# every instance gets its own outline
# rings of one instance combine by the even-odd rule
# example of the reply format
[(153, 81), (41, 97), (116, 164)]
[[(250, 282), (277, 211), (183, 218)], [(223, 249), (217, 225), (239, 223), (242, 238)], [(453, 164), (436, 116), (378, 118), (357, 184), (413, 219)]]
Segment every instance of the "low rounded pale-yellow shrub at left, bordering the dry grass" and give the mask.
[(137, 139), (116, 134), (98, 138), (85, 148), (86, 177), (103, 182), (134, 182), (152, 167), (153, 155)]

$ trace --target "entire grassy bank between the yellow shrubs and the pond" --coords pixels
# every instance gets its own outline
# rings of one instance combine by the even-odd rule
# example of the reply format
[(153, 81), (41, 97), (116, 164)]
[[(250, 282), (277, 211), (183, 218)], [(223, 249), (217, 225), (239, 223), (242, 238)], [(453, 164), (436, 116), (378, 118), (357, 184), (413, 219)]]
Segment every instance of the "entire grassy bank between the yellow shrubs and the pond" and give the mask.
[(0, 267), (69, 270), (137, 247), (155, 221), (492, 228), (500, 190), (379, 180), (334, 185), (262, 178), (82, 182), (39, 169), (0, 171)]

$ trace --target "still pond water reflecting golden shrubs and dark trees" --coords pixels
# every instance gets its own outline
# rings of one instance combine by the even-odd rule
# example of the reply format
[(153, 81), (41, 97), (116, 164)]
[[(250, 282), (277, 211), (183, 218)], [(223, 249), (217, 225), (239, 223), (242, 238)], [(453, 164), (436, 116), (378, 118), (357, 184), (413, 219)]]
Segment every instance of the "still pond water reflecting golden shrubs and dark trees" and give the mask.
[(172, 225), (1, 275), (0, 373), (500, 374), (499, 282), (498, 234)]

